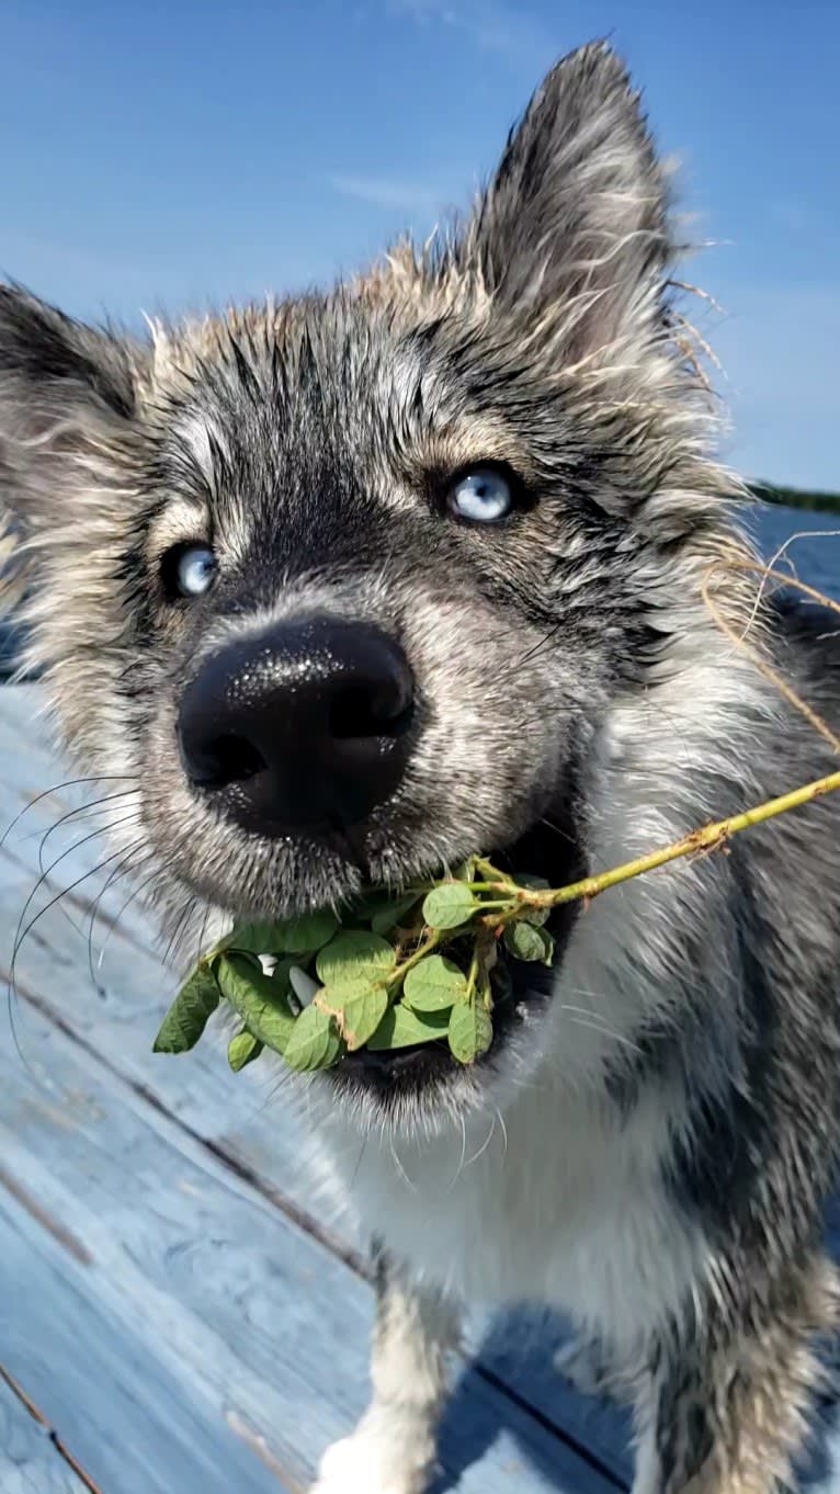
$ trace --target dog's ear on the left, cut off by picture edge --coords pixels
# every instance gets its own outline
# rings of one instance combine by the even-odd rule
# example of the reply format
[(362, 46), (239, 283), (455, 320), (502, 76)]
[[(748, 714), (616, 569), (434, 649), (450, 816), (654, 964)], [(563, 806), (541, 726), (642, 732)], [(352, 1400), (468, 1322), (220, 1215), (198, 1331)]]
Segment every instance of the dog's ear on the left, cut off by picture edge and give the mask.
[(0, 503), (15, 526), (67, 523), (85, 454), (130, 439), (130, 345), (0, 285)]

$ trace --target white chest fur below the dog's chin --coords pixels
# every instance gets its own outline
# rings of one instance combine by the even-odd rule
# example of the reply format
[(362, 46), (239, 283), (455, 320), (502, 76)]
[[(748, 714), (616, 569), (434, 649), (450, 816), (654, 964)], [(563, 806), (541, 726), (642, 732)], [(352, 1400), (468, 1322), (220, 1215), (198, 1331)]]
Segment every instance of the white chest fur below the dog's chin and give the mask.
[(631, 1349), (701, 1268), (702, 1237), (662, 1183), (659, 1101), (622, 1123), (535, 1083), (504, 1119), (490, 1107), (429, 1141), (330, 1132), (332, 1201), (466, 1301), (549, 1303)]

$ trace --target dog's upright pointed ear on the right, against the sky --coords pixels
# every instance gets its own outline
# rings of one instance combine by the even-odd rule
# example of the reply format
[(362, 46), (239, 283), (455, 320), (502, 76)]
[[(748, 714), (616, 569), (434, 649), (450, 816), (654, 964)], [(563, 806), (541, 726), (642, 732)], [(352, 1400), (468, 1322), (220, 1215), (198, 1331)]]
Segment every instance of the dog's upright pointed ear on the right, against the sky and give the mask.
[(511, 133), (462, 245), (496, 303), (556, 320), (578, 354), (649, 314), (668, 260), (668, 199), (623, 63), (563, 58)]

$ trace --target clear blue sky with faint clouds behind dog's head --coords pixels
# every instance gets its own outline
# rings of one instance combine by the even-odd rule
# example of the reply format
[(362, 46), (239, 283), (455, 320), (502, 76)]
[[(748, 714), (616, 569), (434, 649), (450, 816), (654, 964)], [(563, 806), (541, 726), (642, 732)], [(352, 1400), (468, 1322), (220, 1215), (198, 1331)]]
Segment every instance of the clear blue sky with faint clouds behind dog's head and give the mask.
[(332, 279), (492, 169), (610, 34), (682, 160), (750, 475), (840, 489), (836, 0), (6, 0), (0, 270), (76, 315)]

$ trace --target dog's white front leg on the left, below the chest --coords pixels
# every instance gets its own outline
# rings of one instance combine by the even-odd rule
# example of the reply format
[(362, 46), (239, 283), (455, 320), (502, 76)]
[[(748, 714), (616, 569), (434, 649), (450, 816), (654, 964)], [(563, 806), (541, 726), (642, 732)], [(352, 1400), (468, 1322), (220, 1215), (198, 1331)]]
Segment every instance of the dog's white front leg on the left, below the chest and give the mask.
[(435, 1464), (459, 1312), (380, 1247), (375, 1271), (374, 1398), (353, 1436), (324, 1455), (312, 1494), (423, 1494)]

